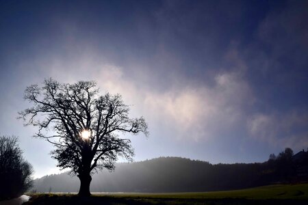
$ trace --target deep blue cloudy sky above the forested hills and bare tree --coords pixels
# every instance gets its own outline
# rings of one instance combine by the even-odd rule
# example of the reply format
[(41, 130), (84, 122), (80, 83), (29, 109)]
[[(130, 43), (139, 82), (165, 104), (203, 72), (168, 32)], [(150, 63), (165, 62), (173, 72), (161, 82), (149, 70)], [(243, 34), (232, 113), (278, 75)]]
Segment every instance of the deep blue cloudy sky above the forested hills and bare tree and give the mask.
[(308, 1), (0, 0), (0, 135), (34, 177), (58, 173), (17, 112), (46, 78), (121, 94), (149, 137), (135, 161), (267, 161), (308, 148)]

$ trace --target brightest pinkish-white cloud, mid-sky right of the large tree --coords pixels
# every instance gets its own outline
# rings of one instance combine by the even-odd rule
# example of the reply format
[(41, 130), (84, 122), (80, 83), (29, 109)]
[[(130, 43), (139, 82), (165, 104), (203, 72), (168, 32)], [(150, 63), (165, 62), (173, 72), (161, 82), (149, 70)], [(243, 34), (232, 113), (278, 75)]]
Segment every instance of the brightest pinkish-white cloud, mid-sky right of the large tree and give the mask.
[(144, 103), (157, 120), (175, 127), (180, 138), (199, 141), (228, 135), (242, 122), (253, 94), (237, 72), (216, 74), (214, 82), (214, 86), (175, 87), (163, 94), (149, 92)]

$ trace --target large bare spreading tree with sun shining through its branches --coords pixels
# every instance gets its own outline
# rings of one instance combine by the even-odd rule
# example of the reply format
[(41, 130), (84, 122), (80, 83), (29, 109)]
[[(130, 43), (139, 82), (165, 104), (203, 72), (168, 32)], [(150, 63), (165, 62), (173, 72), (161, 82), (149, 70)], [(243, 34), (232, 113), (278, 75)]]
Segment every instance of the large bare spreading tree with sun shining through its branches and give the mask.
[[(99, 96), (94, 81), (62, 84), (45, 79), (42, 87), (27, 87), (24, 98), (34, 106), (19, 112), (19, 118), (38, 126), (35, 136), (55, 146), (51, 154), (57, 166), (77, 174), (81, 196), (90, 195), (91, 175), (98, 169), (114, 169), (118, 156), (131, 160), (131, 141), (120, 133), (148, 135), (144, 118), (129, 118), (119, 94)], [(53, 132), (47, 135), (50, 128)]]

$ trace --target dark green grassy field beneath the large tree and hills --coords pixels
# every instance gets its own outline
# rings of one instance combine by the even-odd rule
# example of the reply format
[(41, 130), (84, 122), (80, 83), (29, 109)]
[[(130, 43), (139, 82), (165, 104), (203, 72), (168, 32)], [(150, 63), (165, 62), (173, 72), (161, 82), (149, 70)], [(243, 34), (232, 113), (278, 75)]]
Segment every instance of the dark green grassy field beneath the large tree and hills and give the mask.
[(202, 193), (31, 194), (26, 204), (308, 204), (308, 184), (272, 185)]

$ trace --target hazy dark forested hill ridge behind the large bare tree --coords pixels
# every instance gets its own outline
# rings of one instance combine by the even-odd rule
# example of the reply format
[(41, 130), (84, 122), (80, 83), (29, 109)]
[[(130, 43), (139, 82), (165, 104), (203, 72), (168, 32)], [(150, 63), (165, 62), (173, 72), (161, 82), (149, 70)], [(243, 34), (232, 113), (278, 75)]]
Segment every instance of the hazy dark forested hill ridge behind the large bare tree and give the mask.
[[(92, 176), (92, 192), (184, 192), (218, 191), (256, 187), (265, 184), (300, 182), (298, 167), (307, 167), (305, 160), (294, 161), (286, 148), (278, 156), (270, 155), (264, 163), (212, 165), (179, 157), (160, 157), (135, 163), (118, 163), (114, 172), (99, 172)], [(302, 157), (303, 158), (303, 157)], [(44, 176), (34, 180), (32, 191), (77, 192), (79, 179), (67, 173)]]

